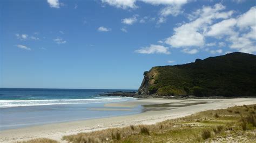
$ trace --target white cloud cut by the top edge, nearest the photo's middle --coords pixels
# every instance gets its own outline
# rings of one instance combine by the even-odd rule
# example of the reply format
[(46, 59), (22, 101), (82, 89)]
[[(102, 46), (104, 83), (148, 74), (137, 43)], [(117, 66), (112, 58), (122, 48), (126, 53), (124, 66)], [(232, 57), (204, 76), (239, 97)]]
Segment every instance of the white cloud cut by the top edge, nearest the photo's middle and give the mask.
[(135, 2), (136, 0), (102, 0), (102, 3), (107, 3), (121, 9), (136, 9)]

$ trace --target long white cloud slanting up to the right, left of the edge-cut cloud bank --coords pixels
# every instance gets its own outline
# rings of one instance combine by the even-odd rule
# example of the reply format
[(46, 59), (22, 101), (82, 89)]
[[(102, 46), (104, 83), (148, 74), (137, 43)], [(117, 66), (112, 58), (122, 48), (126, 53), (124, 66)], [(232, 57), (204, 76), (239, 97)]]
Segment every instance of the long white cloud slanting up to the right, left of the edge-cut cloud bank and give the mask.
[(207, 26), (212, 24), (214, 19), (219, 18), (219, 11), (223, 9), (225, 6), (221, 4), (215, 4), (213, 7), (203, 6), (203, 9), (193, 12), (192, 22), (174, 28), (174, 35), (167, 38), (165, 43), (172, 47), (203, 46)]

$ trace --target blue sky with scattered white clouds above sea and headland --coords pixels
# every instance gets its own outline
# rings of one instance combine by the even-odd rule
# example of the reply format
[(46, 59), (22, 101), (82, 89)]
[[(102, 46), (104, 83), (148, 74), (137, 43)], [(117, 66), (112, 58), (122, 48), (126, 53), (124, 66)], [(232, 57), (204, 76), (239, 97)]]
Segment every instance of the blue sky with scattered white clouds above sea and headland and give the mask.
[(2, 0), (0, 87), (138, 89), (144, 71), (256, 53), (254, 0)]

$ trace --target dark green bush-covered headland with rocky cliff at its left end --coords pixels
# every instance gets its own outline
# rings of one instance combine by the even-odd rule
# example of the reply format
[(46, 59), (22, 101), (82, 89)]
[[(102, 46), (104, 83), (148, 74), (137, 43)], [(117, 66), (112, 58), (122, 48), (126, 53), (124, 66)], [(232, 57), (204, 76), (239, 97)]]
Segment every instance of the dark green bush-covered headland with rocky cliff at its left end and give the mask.
[(231, 53), (144, 72), (144, 95), (256, 96), (256, 55)]

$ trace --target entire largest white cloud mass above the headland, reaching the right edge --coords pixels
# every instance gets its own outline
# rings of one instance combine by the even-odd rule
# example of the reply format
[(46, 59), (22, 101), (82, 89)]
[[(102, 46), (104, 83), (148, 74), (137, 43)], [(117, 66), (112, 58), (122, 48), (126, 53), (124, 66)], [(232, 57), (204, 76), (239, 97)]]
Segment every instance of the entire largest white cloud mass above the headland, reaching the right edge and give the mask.
[[(189, 22), (173, 28), (174, 34), (166, 38), (165, 44), (173, 48), (183, 48), (184, 53), (194, 54), (204, 46), (215, 46), (216, 43), (206, 44), (206, 39), (216, 38), (218, 47), (228, 46), (240, 52), (256, 52), (256, 6), (237, 17), (234, 11), (224, 11), (225, 6), (203, 6), (188, 15)], [(196, 47), (191, 49), (191, 47)], [(223, 51), (209, 51), (212, 54)]]

